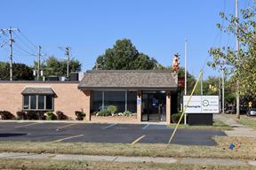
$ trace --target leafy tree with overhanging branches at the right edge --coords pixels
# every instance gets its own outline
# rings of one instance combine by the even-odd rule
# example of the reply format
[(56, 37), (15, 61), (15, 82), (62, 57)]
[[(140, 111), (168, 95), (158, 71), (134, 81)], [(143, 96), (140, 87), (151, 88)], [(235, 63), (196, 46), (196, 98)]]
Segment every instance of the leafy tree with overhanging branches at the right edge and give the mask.
[[(228, 25), (217, 24), (224, 33), (235, 35), (240, 42), (240, 50), (236, 56), (236, 50), (229, 46), (211, 48), (210, 55), (213, 61), (209, 63), (214, 69), (224, 64), (230, 74), (230, 83), (236, 86), (239, 81), (239, 93), (242, 97), (256, 97), (256, 22), (255, 1), (252, 6), (241, 10), (241, 18), (236, 19), (234, 15), (227, 16), (220, 12), (220, 17), (228, 21)], [(236, 35), (236, 23), (238, 30)]]

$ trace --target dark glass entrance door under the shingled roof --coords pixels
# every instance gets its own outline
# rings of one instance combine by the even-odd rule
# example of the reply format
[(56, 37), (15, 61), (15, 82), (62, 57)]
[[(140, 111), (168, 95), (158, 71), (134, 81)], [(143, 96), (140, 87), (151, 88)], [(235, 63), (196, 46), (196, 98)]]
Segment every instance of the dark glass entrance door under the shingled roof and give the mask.
[(166, 120), (166, 94), (163, 91), (142, 92), (142, 121)]

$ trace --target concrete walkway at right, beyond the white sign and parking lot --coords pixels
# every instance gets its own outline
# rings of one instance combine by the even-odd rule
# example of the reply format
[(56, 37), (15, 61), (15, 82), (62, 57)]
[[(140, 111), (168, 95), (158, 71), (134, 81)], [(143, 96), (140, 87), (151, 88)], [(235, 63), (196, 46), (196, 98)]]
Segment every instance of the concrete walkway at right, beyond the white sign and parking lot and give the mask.
[(256, 131), (252, 128), (247, 128), (242, 124), (236, 122), (232, 118), (228, 118), (223, 114), (214, 114), (214, 120), (223, 121), (225, 124), (229, 125), (233, 130), (226, 130), (225, 133), (228, 136), (243, 136), (243, 137), (253, 137), (256, 138)]

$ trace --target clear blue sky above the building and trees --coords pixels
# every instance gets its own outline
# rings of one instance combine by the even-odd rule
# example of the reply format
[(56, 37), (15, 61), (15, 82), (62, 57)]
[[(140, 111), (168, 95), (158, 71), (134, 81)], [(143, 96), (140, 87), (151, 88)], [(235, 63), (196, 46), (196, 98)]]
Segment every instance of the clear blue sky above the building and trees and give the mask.
[[(240, 0), (243, 8), (251, 0)], [(172, 65), (180, 53), (184, 66), (184, 43), (188, 39), (188, 72), (204, 77), (218, 75), (205, 66), (211, 47), (235, 47), (232, 35), (216, 27), (220, 12), (235, 13), (235, 0), (12, 0), (1, 1), (0, 28), (19, 28), (13, 33), (13, 62), (32, 65), (35, 45), (41, 45), (44, 60), (54, 55), (64, 59), (59, 47), (70, 46), (73, 58), (92, 69), (96, 58), (116, 40), (128, 38), (137, 50)], [(7, 41), (0, 36), (0, 44)], [(0, 48), (0, 61), (9, 61), (9, 46)]]

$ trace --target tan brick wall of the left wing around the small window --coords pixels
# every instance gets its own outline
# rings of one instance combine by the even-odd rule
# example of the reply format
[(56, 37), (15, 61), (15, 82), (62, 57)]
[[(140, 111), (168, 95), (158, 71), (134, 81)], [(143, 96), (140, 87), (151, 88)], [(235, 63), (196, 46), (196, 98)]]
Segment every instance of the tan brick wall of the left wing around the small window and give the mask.
[[(72, 119), (76, 118), (75, 112), (84, 109), (87, 113), (90, 111), (90, 95), (84, 95), (83, 92), (77, 89), (78, 83), (0, 83), (0, 110), (16, 112), (22, 110), (22, 95), (21, 92), (26, 86), (30, 87), (52, 87), (56, 96), (54, 98), (54, 112), (64, 112)], [(90, 94), (90, 93), (89, 93)], [(88, 113), (87, 113), (88, 115)]]

